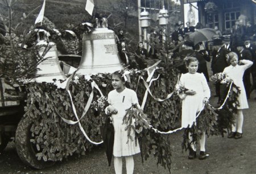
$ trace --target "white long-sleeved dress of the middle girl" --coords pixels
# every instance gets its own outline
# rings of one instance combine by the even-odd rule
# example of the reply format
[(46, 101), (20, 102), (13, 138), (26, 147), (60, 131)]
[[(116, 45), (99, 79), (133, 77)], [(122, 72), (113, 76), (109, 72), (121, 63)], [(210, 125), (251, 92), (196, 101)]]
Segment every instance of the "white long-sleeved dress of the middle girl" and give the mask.
[(180, 85), (195, 90), (195, 95), (187, 95), (182, 102), (181, 127), (191, 127), (196, 114), (203, 108), (205, 97), (210, 98), (210, 89), (203, 73), (181, 74)]

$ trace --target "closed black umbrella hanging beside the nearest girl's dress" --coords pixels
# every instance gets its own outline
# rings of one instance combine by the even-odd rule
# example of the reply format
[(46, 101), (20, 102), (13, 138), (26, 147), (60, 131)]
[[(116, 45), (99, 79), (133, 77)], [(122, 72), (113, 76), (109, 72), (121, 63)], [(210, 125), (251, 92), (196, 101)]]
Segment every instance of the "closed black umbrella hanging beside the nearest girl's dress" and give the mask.
[(104, 141), (105, 153), (108, 158), (109, 166), (111, 164), (113, 156), (113, 146), (114, 146), (114, 126), (110, 123), (110, 118), (107, 116), (105, 123), (100, 127), (101, 136)]

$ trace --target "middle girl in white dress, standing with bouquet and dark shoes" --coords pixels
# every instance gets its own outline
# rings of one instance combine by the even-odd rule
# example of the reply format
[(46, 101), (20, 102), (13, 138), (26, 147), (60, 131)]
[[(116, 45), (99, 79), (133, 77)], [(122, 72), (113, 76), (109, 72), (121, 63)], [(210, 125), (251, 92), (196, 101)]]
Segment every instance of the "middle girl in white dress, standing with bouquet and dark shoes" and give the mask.
[[(210, 98), (210, 89), (207, 80), (203, 73), (197, 73), (198, 60), (196, 57), (186, 57), (185, 64), (188, 68), (188, 73), (181, 74), (180, 86), (184, 86), (188, 90), (185, 91), (185, 98), (182, 102), (182, 115), (181, 126), (191, 127), (193, 122), (196, 121), (196, 114), (203, 108), (203, 104), (207, 103)], [(192, 136), (189, 132), (189, 139), (192, 142)], [(205, 132), (201, 135), (200, 143), (200, 156), (199, 159), (207, 158), (205, 153)], [(191, 144), (189, 148), (188, 159), (196, 158), (195, 144)]]

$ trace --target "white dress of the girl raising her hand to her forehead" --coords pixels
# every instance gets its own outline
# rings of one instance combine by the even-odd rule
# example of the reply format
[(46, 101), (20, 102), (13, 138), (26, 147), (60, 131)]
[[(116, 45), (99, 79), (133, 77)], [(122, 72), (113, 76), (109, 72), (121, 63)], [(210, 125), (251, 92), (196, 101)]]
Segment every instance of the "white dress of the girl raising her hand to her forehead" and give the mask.
[(240, 60), (240, 62), (244, 65), (236, 65), (236, 67), (229, 65), (223, 72), (233, 80), (235, 85), (240, 87), (241, 93), (238, 96), (240, 106), (238, 106), (237, 109), (247, 109), (249, 106), (246, 98), (245, 86), (243, 86), (243, 73), (253, 65), (253, 62), (250, 60)]

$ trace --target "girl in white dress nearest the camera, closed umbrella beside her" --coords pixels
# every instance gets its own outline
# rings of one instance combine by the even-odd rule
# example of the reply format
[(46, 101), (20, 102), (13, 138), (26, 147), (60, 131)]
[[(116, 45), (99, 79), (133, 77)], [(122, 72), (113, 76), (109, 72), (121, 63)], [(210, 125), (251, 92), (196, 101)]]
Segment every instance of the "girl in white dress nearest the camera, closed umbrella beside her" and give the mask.
[[(141, 151), (138, 139), (135, 139), (134, 130), (131, 130), (130, 133), (132, 139), (128, 139), (127, 130), (125, 130), (127, 125), (123, 123), (123, 117), (125, 117), (127, 109), (132, 105), (138, 105), (138, 98), (134, 90), (125, 87), (125, 78), (120, 72), (114, 72), (111, 79), (114, 90), (109, 92), (109, 106), (106, 108), (106, 112), (112, 114), (114, 125), (113, 155), (115, 173), (122, 173), (122, 156), (125, 156), (126, 172), (131, 174), (134, 170), (133, 155)], [(132, 124), (134, 126), (134, 122)]]

